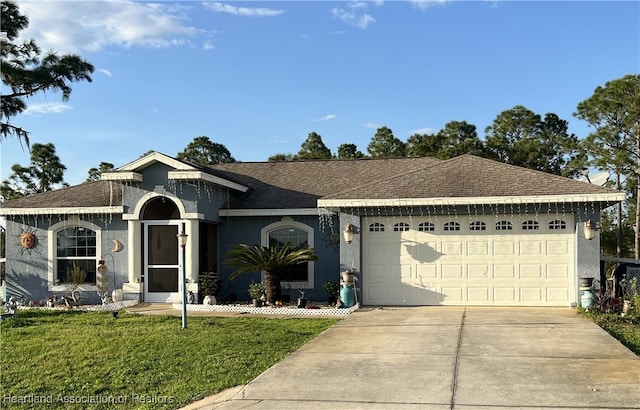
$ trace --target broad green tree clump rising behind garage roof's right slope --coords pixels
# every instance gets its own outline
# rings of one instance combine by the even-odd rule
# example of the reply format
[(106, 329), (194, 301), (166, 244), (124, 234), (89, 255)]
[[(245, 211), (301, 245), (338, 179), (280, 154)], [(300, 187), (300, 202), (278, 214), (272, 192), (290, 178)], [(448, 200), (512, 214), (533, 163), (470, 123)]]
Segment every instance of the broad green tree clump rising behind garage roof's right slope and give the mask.
[(543, 120), (518, 105), (498, 114), (485, 135), (487, 156), (498, 161), (563, 176), (581, 170), (578, 138), (556, 114)]

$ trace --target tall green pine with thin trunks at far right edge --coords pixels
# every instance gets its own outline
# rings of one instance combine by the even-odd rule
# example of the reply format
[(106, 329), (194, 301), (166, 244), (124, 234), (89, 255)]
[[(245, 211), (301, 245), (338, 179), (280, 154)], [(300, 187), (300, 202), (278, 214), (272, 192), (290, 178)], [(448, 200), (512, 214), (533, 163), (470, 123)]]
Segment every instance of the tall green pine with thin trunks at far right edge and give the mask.
[[(595, 128), (585, 140), (593, 164), (618, 176), (634, 179), (635, 226), (640, 227), (640, 75), (629, 74), (598, 86), (580, 102), (574, 115)], [(618, 211), (618, 253), (621, 249), (622, 211)], [(635, 258), (640, 257), (640, 229), (634, 234)]]

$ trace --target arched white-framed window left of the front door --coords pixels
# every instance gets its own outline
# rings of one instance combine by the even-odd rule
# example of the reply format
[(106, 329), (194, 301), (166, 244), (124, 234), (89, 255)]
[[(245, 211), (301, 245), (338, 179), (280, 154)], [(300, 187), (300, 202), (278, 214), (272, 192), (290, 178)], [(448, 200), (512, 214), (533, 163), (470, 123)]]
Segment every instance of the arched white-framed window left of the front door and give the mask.
[(82, 226), (71, 226), (56, 233), (56, 281), (71, 282), (74, 267), (84, 270), (84, 283), (96, 284), (98, 263), (96, 231)]

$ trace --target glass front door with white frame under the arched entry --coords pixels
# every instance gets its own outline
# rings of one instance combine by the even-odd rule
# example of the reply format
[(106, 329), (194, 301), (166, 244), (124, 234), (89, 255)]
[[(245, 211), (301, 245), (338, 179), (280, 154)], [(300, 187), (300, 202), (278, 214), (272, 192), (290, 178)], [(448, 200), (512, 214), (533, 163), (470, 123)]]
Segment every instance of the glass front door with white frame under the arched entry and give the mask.
[(179, 222), (154, 222), (145, 226), (145, 301), (178, 302), (182, 291)]

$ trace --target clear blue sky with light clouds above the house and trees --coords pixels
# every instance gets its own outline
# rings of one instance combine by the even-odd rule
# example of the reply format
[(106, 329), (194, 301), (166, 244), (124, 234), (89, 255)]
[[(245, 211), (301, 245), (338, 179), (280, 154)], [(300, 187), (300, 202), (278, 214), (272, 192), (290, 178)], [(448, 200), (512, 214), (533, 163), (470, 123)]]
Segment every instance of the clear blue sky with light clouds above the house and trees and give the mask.
[[(640, 2), (18, 1), (23, 34), (91, 62), (67, 102), (28, 100), (12, 123), (53, 143), (65, 180), (195, 137), (239, 161), (296, 153), (310, 132), (366, 153), (376, 128), (403, 141), (450, 121), (479, 135), (516, 105), (573, 117), (597, 86), (640, 72)], [(3, 93), (6, 89), (2, 88)], [(0, 178), (29, 164), (0, 145)]]

